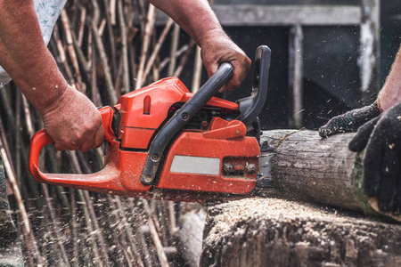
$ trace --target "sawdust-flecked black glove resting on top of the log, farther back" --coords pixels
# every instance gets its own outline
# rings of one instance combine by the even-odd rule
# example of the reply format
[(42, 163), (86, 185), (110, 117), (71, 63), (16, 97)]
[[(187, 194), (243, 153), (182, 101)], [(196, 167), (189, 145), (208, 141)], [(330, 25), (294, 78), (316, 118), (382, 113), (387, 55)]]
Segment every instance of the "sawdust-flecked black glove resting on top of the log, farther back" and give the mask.
[(375, 101), (370, 106), (353, 109), (347, 113), (332, 117), (327, 124), (320, 127), (319, 134), (322, 137), (327, 137), (333, 134), (356, 132), (359, 126), (379, 115), (381, 115), (381, 110)]

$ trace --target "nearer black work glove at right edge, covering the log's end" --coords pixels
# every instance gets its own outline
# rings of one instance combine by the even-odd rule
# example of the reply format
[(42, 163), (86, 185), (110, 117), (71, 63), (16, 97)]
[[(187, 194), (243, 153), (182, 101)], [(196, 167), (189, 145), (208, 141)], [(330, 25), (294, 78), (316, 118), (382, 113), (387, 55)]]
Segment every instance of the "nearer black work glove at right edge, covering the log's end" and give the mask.
[(364, 192), (382, 212), (401, 211), (401, 104), (359, 127), (349, 149), (364, 154)]

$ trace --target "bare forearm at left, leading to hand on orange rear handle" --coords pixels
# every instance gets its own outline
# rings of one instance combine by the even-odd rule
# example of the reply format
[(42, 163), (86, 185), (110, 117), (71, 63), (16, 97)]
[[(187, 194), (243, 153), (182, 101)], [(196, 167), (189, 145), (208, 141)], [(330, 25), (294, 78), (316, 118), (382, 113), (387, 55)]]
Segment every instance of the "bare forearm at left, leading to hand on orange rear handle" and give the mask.
[(67, 83), (47, 50), (32, 0), (0, 0), (0, 65), (40, 112)]

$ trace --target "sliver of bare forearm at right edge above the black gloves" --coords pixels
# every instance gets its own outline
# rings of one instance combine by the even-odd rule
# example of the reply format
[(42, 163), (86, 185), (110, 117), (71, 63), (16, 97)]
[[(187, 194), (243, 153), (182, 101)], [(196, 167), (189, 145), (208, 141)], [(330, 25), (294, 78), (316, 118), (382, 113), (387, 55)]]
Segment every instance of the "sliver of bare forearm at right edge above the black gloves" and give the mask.
[(401, 46), (379, 93), (379, 102), (383, 111), (401, 103)]

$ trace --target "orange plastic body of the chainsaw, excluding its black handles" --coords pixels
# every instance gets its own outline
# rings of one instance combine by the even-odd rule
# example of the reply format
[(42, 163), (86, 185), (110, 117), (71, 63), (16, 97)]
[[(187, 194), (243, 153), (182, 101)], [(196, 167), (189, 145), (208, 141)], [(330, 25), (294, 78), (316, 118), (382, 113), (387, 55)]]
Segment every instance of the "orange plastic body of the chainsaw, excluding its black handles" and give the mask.
[[(238, 120), (226, 121), (214, 117), (209, 122), (202, 121), (202, 129), (183, 129), (169, 147), (160, 168), (159, 177), (153, 185), (143, 185), (140, 175), (143, 171), (147, 149), (160, 125), (174, 112), (174, 105), (184, 103), (192, 97), (184, 84), (176, 77), (161, 79), (142, 89), (122, 95), (113, 109), (101, 109), (107, 148), (105, 167), (94, 174), (43, 174), (38, 169), (37, 160), (31, 160), (30, 171), (39, 182), (57, 184), (83, 190), (112, 193), (124, 196), (154, 198), (151, 190), (179, 190), (185, 200), (190, 201), (185, 192), (225, 193), (245, 195), (256, 185), (259, 146), (254, 137), (246, 135), (246, 126)], [(209, 109), (235, 112), (238, 105), (231, 101), (211, 98)], [(120, 112), (119, 132), (116, 136), (111, 129), (114, 112)], [(36, 146), (31, 148), (32, 158), (38, 155), (44, 145), (53, 140), (39, 131), (32, 140)], [(39, 142), (38, 140), (43, 140)], [(176, 156), (184, 158), (171, 169)], [(210, 165), (208, 166), (208, 159)], [(201, 161), (205, 168), (199, 173), (185, 173), (192, 166), (179, 166)], [(206, 160), (206, 161), (205, 161)], [(224, 166), (233, 166), (233, 174), (225, 174)], [(249, 172), (246, 167), (253, 165)], [(218, 169), (218, 173), (217, 170)], [(210, 196), (212, 197), (212, 196)], [(168, 198), (168, 197), (165, 197)], [(193, 199), (199, 201), (200, 198)]]

